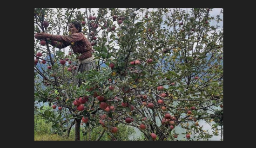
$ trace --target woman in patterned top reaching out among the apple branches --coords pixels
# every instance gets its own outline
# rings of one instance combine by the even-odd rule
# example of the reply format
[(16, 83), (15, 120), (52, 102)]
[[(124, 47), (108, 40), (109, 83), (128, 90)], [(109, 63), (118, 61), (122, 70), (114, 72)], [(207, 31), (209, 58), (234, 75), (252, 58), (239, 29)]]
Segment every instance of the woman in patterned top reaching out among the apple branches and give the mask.
[[(91, 69), (96, 69), (96, 64), (93, 56), (93, 48), (88, 39), (81, 33), (81, 24), (79, 22), (72, 22), (69, 25), (69, 30), (71, 35), (68, 36), (60, 36), (60, 35), (52, 35), (49, 33), (38, 33), (38, 39), (47, 38), (47, 41), (52, 46), (62, 49), (67, 46), (71, 46), (73, 52), (76, 55), (81, 54), (77, 57), (79, 59), (77, 68), (75, 70), (74, 75), (78, 72), (89, 71)], [(81, 86), (81, 79), (75, 78), (74, 84)]]

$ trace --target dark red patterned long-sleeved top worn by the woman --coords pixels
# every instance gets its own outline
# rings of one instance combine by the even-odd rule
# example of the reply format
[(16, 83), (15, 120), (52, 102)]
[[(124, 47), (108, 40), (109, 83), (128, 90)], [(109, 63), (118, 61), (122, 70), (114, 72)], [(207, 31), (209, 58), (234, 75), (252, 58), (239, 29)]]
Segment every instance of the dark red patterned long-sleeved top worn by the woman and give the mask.
[(68, 36), (52, 35), (49, 39), (51, 40), (50, 44), (59, 49), (71, 45), (75, 54), (82, 54), (78, 57), (80, 60), (92, 57), (92, 45), (81, 32), (75, 32)]

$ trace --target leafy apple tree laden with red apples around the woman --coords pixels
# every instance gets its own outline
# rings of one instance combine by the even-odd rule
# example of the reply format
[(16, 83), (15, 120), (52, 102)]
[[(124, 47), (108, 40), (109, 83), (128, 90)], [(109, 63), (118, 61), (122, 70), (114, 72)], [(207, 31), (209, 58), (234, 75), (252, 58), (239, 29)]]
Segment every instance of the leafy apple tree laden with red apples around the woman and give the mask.
[[(53, 123), (54, 133), (68, 136), (74, 125), (75, 140), (81, 123), (102, 127), (97, 140), (104, 133), (118, 140), (118, 124), (140, 129), (145, 140), (221, 135), (222, 9), (211, 16), (213, 10), (35, 8), (35, 111)], [(36, 39), (37, 32), (68, 35), (72, 21), (81, 23), (97, 65), (76, 76), (77, 55), (69, 46), (57, 49)], [(74, 77), (84, 80), (80, 87)], [(52, 109), (43, 111), (43, 105)], [(212, 133), (200, 120), (212, 123)], [(177, 126), (186, 132), (178, 135)]]

